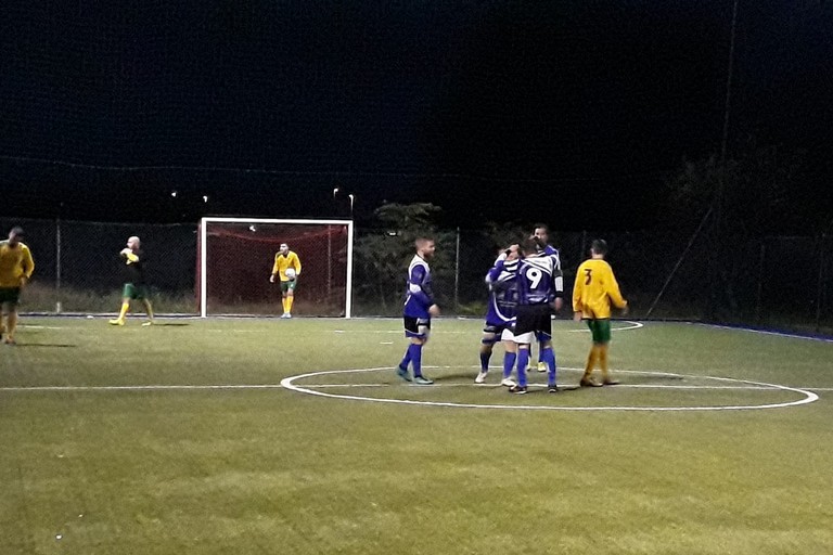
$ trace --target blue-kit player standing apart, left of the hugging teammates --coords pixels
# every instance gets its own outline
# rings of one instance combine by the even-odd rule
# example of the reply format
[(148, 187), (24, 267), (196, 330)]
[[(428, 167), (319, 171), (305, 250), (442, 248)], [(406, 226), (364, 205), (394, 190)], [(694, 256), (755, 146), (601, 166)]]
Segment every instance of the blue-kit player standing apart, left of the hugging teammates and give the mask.
[[(422, 375), (422, 347), (428, 341), (432, 317), (439, 315), (439, 307), (434, 302), (434, 294), (431, 291), (431, 269), (428, 268), (428, 260), (434, 256), (434, 240), (419, 237), (415, 246), (416, 254), (408, 266), (408, 284), (402, 310), (405, 336), (410, 338), (411, 343), (396, 373), (406, 382), (412, 380), (421, 386), (430, 386), (434, 382)], [(413, 378), (408, 373), (409, 364), (413, 369)]]

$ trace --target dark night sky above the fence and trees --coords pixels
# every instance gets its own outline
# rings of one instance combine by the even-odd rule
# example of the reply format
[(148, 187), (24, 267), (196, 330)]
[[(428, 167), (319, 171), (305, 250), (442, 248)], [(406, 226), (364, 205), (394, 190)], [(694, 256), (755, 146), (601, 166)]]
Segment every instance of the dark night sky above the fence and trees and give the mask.
[[(0, 214), (330, 217), (337, 185), (360, 218), (387, 199), (433, 202), (449, 225), (650, 227), (664, 177), (719, 151), (731, 9), (7, 2)], [(730, 154), (747, 133), (805, 149), (818, 188), (833, 177), (832, 12), (741, 0), (736, 27)]]

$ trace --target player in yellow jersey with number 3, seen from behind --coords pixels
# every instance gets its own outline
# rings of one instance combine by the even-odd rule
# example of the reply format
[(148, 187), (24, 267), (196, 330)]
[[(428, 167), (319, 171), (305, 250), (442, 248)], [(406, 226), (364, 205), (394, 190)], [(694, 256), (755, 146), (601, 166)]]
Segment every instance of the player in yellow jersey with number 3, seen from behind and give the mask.
[[(573, 287), (573, 312), (576, 321), (585, 320), (593, 337), (593, 346), (587, 357), (581, 387), (615, 385), (607, 367), (607, 347), (611, 343), (611, 304), (627, 311), (628, 301), (621, 297), (619, 284), (613, 275), (613, 269), (604, 260), (607, 243), (598, 238), (590, 246), (590, 259), (581, 262), (576, 271), (576, 284)], [(602, 370), (602, 383), (595, 382), (591, 374), (597, 363)]]

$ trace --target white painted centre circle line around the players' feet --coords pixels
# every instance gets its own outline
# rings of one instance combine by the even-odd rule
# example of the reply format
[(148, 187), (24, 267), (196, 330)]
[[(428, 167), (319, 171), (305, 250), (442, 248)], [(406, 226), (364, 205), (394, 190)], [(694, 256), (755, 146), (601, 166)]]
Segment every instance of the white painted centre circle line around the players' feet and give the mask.
[[(565, 369), (562, 369), (565, 370)], [(747, 379), (734, 379), (728, 377), (716, 376), (693, 376), (687, 374), (672, 374), (662, 372), (658, 374), (665, 376), (678, 376), (681, 378), (697, 378), (697, 379), (716, 379), (719, 382), (735, 383), (735, 384), (748, 384), (756, 386), (756, 389), (779, 389), (784, 391), (793, 391), (803, 395), (803, 399), (797, 401), (783, 402), (783, 403), (769, 403), (769, 404), (746, 404), (746, 405), (720, 405), (720, 406), (558, 406), (558, 405), (515, 405), (515, 404), (478, 404), (478, 403), (454, 403), (448, 401), (414, 401), (410, 399), (379, 399), (373, 397), (361, 397), (353, 395), (336, 395), (328, 393), (311, 389), (311, 386), (303, 387), (295, 385), (293, 382), (296, 379), (304, 379), (312, 376), (335, 375), (335, 374), (349, 374), (349, 373), (364, 373), (364, 372), (377, 372), (392, 370), (387, 366), (374, 367), (374, 369), (356, 369), (356, 370), (333, 370), (323, 372), (309, 372), (297, 376), (290, 376), (281, 380), (281, 385), (286, 389), (297, 391), (300, 393), (315, 395), (319, 397), (329, 397), (334, 399), (348, 399), (353, 401), (367, 401), (367, 402), (380, 402), (380, 403), (393, 403), (393, 404), (413, 404), (413, 405), (426, 405), (426, 406), (448, 406), (448, 408), (461, 408), (461, 409), (500, 409), (500, 410), (522, 410), (522, 411), (641, 411), (641, 412), (690, 412), (690, 411), (742, 411), (742, 410), (759, 410), (759, 409), (781, 409), (785, 406), (798, 406), (802, 404), (808, 404), (819, 399), (819, 396), (812, 391), (799, 389), (795, 387), (782, 386), (778, 384), (767, 384), (764, 382), (752, 382)], [(642, 372), (641, 374), (654, 374), (652, 372)], [(420, 390), (430, 390), (433, 386), (411, 386)], [(619, 387), (619, 386), (617, 386)]]

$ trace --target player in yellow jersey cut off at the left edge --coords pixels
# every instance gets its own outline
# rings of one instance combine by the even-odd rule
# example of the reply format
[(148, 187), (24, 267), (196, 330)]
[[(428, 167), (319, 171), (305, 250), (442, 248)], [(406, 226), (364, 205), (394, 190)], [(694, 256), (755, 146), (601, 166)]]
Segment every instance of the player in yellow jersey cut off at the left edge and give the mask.
[(8, 241), (0, 241), (0, 338), (7, 345), (14, 345), (17, 328), (17, 302), (23, 289), (35, 271), (29, 247), (21, 243), (23, 230), (12, 228)]

